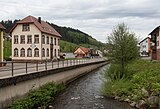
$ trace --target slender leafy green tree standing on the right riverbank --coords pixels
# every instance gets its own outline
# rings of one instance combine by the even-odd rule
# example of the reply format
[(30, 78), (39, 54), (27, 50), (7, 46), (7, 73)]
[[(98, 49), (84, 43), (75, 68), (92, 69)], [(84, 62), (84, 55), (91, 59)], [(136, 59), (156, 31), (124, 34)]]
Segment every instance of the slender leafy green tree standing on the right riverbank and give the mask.
[[(137, 38), (124, 23), (118, 24), (108, 37), (111, 45), (108, 58), (118, 66), (114, 78), (127, 76), (127, 64), (138, 57)], [(115, 73), (115, 72), (114, 72)]]

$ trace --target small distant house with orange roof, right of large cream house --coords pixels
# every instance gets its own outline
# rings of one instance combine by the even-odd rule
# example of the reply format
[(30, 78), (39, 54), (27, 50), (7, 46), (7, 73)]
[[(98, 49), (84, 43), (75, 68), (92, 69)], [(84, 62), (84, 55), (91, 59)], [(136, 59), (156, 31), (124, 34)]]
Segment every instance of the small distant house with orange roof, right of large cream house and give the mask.
[(79, 47), (74, 52), (76, 58), (90, 57), (90, 50), (85, 47)]

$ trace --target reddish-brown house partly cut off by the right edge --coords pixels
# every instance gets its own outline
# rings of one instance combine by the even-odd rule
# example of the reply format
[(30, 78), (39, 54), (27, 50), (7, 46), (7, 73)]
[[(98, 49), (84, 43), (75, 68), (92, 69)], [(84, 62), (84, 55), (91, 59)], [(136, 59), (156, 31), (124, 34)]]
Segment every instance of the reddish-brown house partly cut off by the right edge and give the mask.
[(160, 26), (156, 27), (149, 35), (151, 35), (151, 58), (160, 60)]

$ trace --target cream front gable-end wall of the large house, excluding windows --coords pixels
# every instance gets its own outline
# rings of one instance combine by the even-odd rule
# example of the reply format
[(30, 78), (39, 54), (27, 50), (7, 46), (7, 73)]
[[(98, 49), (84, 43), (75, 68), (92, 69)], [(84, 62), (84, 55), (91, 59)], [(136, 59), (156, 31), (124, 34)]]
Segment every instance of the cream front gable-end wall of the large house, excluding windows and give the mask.
[[(18, 35), (18, 44), (14, 44), (14, 35)], [(20, 35), (25, 35), (25, 44), (20, 44)], [(32, 48), (32, 57), (27, 57), (27, 49), (30, 48), (32, 44), (27, 44), (27, 35), (32, 35), (32, 44), (34, 43), (34, 35), (39, 35), (39, 44), (35, 46), (39, 49), (39, 57), (34, 57), (34, 49)], [(41, 60), (41, 32), (34, 25), (30, 24), (30, 31), (22, 31), (22, 24), (17, 25), (17, 27), (12, 32), (12, 59), (19, 60)], [(18, 48), (18, 57), (14, 57), (14, 49)], [(25, 49), (25, 57), (20, 57), (20, 49)]]

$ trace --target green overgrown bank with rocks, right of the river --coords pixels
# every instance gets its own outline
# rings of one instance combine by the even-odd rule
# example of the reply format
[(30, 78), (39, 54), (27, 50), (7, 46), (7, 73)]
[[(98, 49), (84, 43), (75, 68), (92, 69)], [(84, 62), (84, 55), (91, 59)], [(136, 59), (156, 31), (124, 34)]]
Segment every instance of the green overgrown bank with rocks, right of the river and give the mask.
[(158, 107), (160, 62), (134, 61), (127, 67), (128, 78), (110, 79), (110, 73), (116, 72), (116, 69), (116, 67), (111, 65), (104, 74), (107, 80), (104, 82), (104, 95), (114, 97), (120, 101), (130, 102), (132, 106), (137, 108)]

